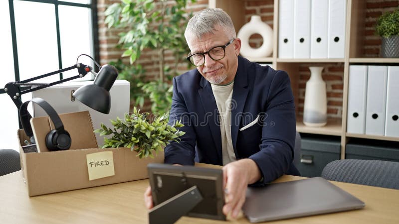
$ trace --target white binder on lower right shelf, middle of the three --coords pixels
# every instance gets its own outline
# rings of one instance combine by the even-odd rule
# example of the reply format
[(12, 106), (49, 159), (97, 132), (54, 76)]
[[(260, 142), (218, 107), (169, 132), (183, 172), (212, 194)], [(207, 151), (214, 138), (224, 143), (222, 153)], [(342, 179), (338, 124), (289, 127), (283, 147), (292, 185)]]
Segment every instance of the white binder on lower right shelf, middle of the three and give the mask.
[(388, 66), (369, 66), (367, 76), (366, 134), (384, 135)]

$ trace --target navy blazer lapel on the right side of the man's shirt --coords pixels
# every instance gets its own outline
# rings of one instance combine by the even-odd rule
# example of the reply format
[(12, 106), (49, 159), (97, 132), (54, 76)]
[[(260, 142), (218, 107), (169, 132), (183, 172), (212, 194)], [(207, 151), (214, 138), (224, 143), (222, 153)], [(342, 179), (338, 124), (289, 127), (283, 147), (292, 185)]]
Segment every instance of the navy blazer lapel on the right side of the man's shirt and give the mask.
[[(231, 108), (231, 140), (235, 155), (237, 157), (237, 136), (238, 129), (241, 123), (242, 111), (244, 110), (245, 101), (248, 96), (248, 80), (246, 74), (246, 66), (243, 58), (238, 56), (238, 69), (234, 78), (233, 96), (232, 100), (235, 101), (236, 107)], [(239, 159), (237, 157), (237, 159)]]

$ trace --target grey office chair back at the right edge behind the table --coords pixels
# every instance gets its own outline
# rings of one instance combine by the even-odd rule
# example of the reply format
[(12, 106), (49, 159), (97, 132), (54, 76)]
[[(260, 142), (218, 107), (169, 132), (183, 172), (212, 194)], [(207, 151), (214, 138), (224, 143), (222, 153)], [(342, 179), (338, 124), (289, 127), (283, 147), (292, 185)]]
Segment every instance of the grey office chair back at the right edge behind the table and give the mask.
[(335, 160), (324, 167), (321, 177), (331, 181), (399, 189), (399, 162)]

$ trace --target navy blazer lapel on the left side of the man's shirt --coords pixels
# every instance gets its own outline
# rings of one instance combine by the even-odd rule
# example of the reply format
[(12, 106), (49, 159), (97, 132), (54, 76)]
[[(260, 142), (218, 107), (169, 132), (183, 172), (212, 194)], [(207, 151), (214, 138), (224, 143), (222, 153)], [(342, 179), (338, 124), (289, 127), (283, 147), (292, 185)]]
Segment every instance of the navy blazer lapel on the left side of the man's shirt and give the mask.
[(207, 124), (212, 134), (213, 141), (215, 142), (218, 161), (222, 164), (219, 111), (217, 110), (216, 101), (209, 82), (205, 78), (201, 77), (200, 86), (202, 88), (198, 90), (198, 94), (200, 95), (202, 106), (205, 111), (205, 114), (203, 115), (206, 116), (205, 121), (208, 121)]

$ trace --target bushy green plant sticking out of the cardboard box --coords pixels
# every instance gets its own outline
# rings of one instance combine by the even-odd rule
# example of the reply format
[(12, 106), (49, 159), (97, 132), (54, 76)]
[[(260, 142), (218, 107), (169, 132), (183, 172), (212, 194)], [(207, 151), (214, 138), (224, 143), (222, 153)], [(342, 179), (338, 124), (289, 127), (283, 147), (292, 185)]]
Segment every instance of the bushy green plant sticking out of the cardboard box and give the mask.
[(94, 132), (100, 133), (100, 136), (112, 134), (111, 138), (104, 137), (102, 148), (126, 147), (138, 152), (139, 158), (154, 158), (153, 152), (163, 151), (171, 141), (179, 142), (179, 137), (185, 132), (177, 129), (184, 126), (180, 121), (168, 124), (168, 113), (161, 117), (154, 116), (153, 121), (147, 119), (148, 115), (150, 113), (140, 113), (135, 107), (133, 113), (125, 113), (124, 120), (119, 117), (111, 120), (113, 128), (101, 123), (101, 128)]

